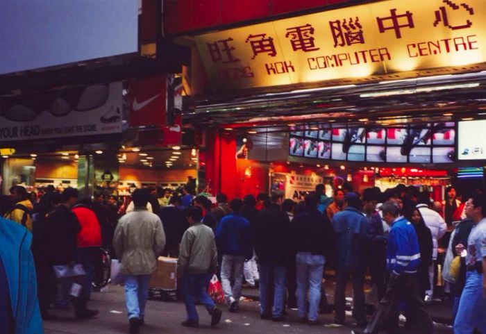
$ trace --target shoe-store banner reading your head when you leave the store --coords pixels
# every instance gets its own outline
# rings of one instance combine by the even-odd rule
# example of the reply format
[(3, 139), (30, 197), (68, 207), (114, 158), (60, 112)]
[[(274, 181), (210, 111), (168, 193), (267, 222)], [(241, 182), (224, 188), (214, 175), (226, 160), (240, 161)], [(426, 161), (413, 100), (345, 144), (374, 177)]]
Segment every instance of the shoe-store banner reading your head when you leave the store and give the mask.
[(121, 133), (121, 83), (0, 97), (0, 143)]

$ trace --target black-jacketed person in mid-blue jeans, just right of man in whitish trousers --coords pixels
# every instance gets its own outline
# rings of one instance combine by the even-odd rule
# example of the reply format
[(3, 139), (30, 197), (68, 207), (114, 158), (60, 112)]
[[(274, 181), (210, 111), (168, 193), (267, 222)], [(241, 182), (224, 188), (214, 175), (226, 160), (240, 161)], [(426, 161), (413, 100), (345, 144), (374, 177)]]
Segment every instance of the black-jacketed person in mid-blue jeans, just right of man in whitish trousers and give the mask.
[(290, 220), (287, 213), (280, 211), (277, 201), (278, 194), (272, 194), (271, 201), (265, 202), (265, 209), (258, 213), (252, 233), (260, 269), (260, 317), (280, 322), (285, 319), (285, 266), (290, 260)]

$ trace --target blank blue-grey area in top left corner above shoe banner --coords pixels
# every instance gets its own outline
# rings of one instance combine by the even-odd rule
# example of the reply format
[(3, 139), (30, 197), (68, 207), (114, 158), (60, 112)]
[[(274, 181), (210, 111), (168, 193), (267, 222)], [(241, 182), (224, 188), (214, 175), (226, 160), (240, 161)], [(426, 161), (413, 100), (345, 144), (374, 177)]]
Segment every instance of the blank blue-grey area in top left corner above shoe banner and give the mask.
[(137, 51), (138, 0), (0, 0), (0, 74)]

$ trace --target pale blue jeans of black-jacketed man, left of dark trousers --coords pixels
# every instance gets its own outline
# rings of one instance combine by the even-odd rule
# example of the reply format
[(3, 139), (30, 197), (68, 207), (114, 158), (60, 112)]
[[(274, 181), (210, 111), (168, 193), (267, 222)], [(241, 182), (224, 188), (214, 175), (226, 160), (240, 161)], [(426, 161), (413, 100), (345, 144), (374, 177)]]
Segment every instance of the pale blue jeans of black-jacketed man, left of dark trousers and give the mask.
[[(321, 255), (299, 251), (297, 263), (297, 307), (299, 317), (307, 315), (310, 321), (317, 320), (319, 301), (321, 301), (321, 284), (326, 258)], [(307, 295), (309, 292), (309, 312), (307, 314)]]

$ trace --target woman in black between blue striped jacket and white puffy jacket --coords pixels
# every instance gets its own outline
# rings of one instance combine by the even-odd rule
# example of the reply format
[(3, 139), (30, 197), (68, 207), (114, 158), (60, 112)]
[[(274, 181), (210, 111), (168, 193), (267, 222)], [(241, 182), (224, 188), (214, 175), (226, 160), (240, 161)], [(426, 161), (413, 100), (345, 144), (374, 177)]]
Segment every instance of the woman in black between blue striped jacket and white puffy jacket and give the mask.
[(417, 239), (419, 240), (420, 249), (420, 265), (417, 270), (417, 278), (419, 281), (419, 291), (422, 298), (425, 298), (426, 290), (430, 289), (428, 279), (428, 267), (432, 263), (433, 242), (430, 228), (424, 222), (419, 209), (414, 206), (406, 206), (403, 208), (403, 215), (415, 228)]

